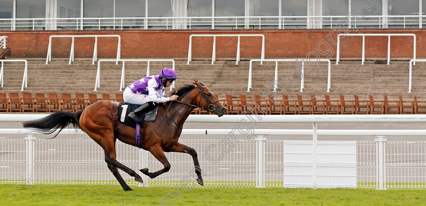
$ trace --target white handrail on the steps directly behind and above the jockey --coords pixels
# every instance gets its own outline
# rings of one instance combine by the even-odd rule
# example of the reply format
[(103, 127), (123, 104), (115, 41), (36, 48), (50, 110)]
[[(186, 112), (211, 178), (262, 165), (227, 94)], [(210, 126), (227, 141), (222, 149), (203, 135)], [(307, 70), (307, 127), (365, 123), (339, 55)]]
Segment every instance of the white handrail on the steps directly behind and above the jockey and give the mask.
[[(150, 75), (150, 62), (160, 62), (160, 61), (170, 61), (172, 62), (172, 69), (174, 70), (174, 60), (173, 59), (99, 59), (98, 60), (98, 66), (96, 71), (96, 80), (95, 80), (95, 89), (93, 91), (97, 91), (97, 88), (100, 87), (100, 62), (123, 62), (123, 67), (121, 68), (121, 80), (120, 80), (120, 90), (123, 91), (123, 87), (126, 87), (124, 85), (124, 62), (148, 62), (148, 68), (147, 68), (147, 76)], [(174, 88), (174, 81), (170, 87), (171, 89)]]

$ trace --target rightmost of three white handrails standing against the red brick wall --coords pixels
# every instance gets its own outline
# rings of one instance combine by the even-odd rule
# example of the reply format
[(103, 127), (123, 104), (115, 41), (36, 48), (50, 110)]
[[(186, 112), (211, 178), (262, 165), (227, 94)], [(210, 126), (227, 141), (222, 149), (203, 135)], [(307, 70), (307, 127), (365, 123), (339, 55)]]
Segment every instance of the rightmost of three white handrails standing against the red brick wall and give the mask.
[(365, 36), (387, 36), (387, 64), (390, 63), (390, 36), (413, 36), (413, 59), (416, 59), (416, 35), (414, 33), (347, 33), (337, 34), (336, 65), (340, 60), (340, 36), (363, 36), (363, 54), (361, 64), (365, 61)]

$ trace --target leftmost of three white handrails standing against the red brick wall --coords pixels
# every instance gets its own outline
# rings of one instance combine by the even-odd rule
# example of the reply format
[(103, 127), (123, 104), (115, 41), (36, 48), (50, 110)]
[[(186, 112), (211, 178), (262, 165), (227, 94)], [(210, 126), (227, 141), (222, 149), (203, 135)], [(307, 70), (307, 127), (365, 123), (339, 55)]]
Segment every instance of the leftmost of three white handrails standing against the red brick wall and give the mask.
[[(71, 64), (71, 62), (74, 61), (74, 37), (95, 37), (95, 46), (93, 49), (92, 64), (95, 64), (95, 61), (97, 59), (97, 38), (98, 37), (117, 37), (118, 38), (117, 60), (120, 59), (120, 55), (121, 55), (121, 36), (120, 35), (51, 35), (49, 36), (49, 46), (47, 49), (46, 64), (48, 64), (49, 61), (52, 61), (52, 38), (53, 37), (71, 37), (72, 38), (71, 51), (69, 54), (68, 64)], [(118, 64), (118, 61), (116, 62), (116, 64)]]

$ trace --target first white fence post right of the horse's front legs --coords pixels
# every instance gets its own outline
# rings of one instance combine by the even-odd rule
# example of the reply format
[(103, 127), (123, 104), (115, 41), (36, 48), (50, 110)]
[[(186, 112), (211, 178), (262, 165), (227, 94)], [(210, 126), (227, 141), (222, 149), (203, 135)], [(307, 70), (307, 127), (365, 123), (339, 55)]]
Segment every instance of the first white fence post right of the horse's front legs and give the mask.
[(265, 141), (264, 135), (258, 135), (256, 141), (256, 188), (265, 188)]

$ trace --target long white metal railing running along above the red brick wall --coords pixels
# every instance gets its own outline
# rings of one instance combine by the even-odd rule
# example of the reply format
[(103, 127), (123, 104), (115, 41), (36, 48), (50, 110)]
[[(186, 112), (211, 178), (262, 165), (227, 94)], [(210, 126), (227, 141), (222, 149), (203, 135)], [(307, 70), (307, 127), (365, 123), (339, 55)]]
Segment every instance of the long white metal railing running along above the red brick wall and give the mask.
[[(356, 18), (355, 18), (356, 17)], [(426, 15), (3, 18), (0, 30), (422, 28)], [(351, 19), (352, 18), (352, 19)], [(352, 23), (349, 23), (351, 22)]]

